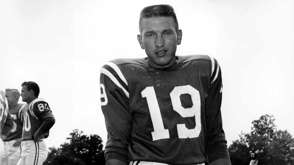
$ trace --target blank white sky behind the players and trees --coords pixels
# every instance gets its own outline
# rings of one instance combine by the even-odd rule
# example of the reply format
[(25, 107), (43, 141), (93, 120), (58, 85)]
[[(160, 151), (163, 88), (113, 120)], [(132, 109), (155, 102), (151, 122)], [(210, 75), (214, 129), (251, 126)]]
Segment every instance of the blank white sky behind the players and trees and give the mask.
[(59, 147), (74, 129), (98, 134), (105, 145), (99, 69), (111, 59), (146, 57), (138, 18), (154, 4), (176, 11), (183, 30), (176, 55), (211, 55), (220, 63), (228, 145), (265, 114), (294, 136), (292, 0), (2, 0), (0, 88), (39, 84), (56, 118), (47, 147)]

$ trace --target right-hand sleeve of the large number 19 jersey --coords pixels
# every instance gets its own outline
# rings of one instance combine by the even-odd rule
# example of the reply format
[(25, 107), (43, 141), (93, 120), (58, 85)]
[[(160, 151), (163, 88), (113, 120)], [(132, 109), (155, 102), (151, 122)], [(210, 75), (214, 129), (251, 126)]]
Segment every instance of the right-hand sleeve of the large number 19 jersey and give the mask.
[(206, 98), (206, 154), (208, 163), (221, 158), (230, 158), (220, 112), (222, 101), (221, 71), (218, 62), (214, 58), (212, 58), (213, 64), (209, 94)]

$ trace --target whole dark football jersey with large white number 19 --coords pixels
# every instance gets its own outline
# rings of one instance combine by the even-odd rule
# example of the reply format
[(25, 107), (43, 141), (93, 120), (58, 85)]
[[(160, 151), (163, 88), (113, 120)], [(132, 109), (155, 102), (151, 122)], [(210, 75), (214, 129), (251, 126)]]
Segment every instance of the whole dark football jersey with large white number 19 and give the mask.
[(176, 56), (165, 69), (147, 58), (116, 59), (101, 68), (107, 159), (201, 164), (229, 158), (220, 113), (218, 62)]

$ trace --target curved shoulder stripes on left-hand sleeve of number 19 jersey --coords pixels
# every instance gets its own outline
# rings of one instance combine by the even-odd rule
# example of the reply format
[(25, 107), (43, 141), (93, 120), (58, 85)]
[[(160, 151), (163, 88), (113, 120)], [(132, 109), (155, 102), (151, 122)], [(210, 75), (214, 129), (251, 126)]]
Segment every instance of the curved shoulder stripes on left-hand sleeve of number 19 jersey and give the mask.
[(121, 69), (119, 69), (119, 67), (115, 63), (107, 62), (100, 69), (100, 74), (104, 74), (109, 77), (109, 79), (111, 79), (111, 81), (113, 81), (113, 83), (116, 84), (116, 86), (118, 86), (123, 91), (126, 97), (129, 98), (128, 82), (123, 76)]

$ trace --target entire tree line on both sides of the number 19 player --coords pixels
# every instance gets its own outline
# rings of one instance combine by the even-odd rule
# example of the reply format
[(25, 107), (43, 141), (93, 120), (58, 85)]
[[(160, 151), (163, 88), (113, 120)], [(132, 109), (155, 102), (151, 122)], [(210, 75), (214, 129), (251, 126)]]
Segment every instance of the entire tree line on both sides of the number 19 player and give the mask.
[[(258, 151), (258, 165), (294, 164), (294, 138), (287, 130), (277, 130), (274, 121), (273, 115), (262, 115), (253, 120), (250, 133), (240, 133), (228, 148), (232, 165), (248, 165), (252, 148)], [(49, 148), (44, 165), (105, 165), (100, 136), (73, 130), (66, 140), (58, 148)]]

